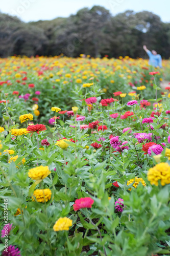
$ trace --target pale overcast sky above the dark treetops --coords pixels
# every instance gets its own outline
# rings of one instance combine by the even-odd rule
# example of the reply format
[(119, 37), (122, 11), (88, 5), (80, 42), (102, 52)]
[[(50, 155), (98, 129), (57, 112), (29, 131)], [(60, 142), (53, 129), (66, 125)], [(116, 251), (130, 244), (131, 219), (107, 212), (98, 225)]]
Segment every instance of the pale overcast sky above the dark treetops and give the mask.
[(1, 0), (0, 11), (25, 22), (68, 17), (83, 7), (100, 5), (115, 15), (126, 10), (151, 11), (170, 22), (170, 0)]

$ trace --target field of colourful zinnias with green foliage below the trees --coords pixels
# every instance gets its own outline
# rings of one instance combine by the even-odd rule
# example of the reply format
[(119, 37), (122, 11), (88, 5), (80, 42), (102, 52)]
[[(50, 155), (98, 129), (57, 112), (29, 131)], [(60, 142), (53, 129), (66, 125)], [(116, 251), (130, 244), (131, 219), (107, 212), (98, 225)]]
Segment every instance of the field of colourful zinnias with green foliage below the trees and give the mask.
[(0, 252), (170, 253), (170, 61), (0, 59)]

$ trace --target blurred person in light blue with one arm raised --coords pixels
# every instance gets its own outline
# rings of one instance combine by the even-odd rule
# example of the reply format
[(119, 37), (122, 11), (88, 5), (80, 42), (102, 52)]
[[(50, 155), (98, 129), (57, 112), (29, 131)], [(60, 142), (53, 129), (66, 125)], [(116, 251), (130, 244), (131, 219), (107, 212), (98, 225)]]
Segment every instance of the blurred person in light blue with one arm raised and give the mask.
[(160, 54), (157, 54), (155, 50), (147, 49), (147, 47), (144, 45), (143, 50), (148, 54), (149, 56), (149, 65), (154, 66), (155, 68), (159, 67), (162, 68), (162, 57)]

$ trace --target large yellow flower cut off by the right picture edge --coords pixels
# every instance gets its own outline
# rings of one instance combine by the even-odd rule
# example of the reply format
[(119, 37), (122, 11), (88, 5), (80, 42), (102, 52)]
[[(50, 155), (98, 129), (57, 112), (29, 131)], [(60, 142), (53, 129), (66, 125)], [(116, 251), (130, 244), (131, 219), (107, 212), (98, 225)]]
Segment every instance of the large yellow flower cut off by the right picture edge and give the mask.
[(158, 186), (158, 181), (162, 186), (170, 183), (170, 166), (168, 163), (158, 163), (148, 171), (148, 180), (153, 185)]

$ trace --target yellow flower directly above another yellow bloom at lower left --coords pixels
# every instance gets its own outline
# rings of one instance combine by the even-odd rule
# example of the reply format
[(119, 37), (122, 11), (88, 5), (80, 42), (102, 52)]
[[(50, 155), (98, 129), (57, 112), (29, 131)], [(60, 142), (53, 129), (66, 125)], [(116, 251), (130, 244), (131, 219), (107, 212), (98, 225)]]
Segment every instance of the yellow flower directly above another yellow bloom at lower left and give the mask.
[(28, 176), (32, 180), (43, 180), (46, 178), (49, 174), (51, 174), (48, 166), (37, 166), (35, 168), (29, 169)]

